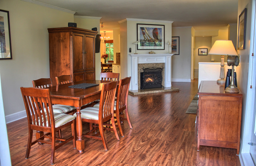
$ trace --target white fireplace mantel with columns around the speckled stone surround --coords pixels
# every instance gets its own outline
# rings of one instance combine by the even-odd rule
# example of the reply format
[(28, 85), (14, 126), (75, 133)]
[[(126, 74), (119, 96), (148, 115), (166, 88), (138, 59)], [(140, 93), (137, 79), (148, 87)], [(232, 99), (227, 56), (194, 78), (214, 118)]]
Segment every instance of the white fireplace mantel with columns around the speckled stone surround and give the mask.
[(164, 63), (164, 87), (172, 86), (172, 55), (174, 54), (129, 54), (131, 56), (131, 90), (138, 90), (138, 64)]

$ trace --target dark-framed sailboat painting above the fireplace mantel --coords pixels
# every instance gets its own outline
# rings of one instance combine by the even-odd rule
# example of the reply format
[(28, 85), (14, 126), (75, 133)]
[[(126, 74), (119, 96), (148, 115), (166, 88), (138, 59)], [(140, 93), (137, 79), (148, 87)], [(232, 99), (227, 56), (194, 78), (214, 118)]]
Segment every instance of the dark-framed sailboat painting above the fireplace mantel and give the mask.
[(164, 25), (137, 24), (137, 50), (164, 49)]

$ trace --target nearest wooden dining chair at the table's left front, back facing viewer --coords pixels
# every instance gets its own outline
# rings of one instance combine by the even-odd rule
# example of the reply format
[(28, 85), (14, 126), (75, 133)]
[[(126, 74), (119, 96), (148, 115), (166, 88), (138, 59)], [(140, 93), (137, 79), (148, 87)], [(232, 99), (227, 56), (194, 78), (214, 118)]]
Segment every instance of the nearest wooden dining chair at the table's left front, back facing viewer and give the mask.
[[(76, 148), (75, 117), (68, 114), (53, 113), (50, 89), (48, 88), (20, 87), (20, 90), (28, 118), (28, 146), (26, 159), (29, 157), (31, 146), (36, 144), (36, 142), (42, 142), (52, 145), (51, 164), (53, 164), (55, 150), (59, 147), (73, 140), (73, 147)], [(49, 107), (47, 107), (47, 105), (49, 105)], [(46, 111), (41, 114), (43, 109), (46, 109)], [(56, 137), (55, 132), (68, 125), (71, 125), (72, 136), (68, 139)], [(32, 141), (33, 130), (44, 131), (47, 133)], [(62, 142), (56, 142), (56, 140)]]

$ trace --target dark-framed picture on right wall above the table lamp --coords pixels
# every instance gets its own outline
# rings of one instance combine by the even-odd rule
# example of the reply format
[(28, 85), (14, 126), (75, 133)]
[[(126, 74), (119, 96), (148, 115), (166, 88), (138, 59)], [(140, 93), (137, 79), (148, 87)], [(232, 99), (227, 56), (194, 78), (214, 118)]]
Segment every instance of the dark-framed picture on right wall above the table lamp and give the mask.
[(237, 49), (245, 49), (246, 15), (247, 8), (244, 8), (239, 15)]

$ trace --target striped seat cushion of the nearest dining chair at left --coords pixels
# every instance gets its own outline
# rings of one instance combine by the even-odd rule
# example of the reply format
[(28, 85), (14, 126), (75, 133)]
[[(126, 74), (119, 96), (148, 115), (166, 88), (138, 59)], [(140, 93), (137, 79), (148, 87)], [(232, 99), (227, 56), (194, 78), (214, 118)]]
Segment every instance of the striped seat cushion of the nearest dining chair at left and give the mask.
[[(53, 113), (53, 116), (54, 116), (54, 121), (55, 121), (55, 127), (59, 127), (59, 126), (66, 124), (75, 119), (75, 117), (72, 115), (61, 114), (61, 113)], [(48, 127), (48, 118), (47, 118), (46, 114), (45, 114), (45, 117), (46, 117), (46, 126)], [(43, 119), (43, 115), (42, 115), (42, 119)], [(39, 122), (39, 125), (41, 125), (40, 120), (38, 120), (38, 122)], [(32, 122), (32, 124), (33, 124), (33, 122)], [(44, 120), (43, 120), (43, 126), (44, 126)]]

